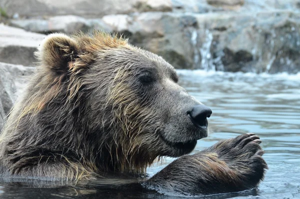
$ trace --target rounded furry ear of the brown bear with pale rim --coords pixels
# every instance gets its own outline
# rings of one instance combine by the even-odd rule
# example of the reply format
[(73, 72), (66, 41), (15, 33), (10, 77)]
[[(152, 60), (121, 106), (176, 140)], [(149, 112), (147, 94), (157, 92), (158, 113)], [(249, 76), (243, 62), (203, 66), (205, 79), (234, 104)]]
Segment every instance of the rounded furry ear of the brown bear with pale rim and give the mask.
[(43, 39), (35, 56), (43, 66), (61, 74), (71, 67), (70, 62), (77, 57), (78, 49), (75, 39), (62, 33), (53, 33)]

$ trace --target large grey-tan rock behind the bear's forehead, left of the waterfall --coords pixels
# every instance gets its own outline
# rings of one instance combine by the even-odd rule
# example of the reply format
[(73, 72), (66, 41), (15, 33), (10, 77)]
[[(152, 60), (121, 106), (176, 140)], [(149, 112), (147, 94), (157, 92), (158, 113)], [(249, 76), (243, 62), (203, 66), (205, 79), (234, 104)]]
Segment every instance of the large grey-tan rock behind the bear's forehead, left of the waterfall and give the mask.
[(161, 55), (176, 68), (192, 68), (189, 27), (195, 23), (192, 16), (144, 12), (129, 16), (127, 29), (122, 29), (132, 44)]

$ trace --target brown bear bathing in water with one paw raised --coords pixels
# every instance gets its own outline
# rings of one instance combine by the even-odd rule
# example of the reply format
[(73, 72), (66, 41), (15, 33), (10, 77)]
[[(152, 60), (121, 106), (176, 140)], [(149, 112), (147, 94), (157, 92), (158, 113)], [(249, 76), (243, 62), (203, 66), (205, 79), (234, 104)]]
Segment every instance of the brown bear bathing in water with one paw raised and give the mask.
[[(101, 32), (50, 34), (36, 56), (40, 64), (1, 133), (2, 177), (130, 178), (192, 195), (251, 189), (263, 179), (253, 133), (185, 155), (207, 136), (211, 110), (160, 56)], [(142, 178), (161, 156), (181, 157)]]

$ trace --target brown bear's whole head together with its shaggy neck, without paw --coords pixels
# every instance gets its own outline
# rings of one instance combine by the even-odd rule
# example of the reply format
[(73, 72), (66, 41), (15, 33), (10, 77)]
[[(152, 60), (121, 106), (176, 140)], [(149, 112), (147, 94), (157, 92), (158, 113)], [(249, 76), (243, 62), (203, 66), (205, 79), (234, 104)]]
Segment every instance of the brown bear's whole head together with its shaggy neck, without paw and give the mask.
[(42, 131), (36, 142), (48, 150), (141, 170), (156, 157), (189, 153), (207, 136), (211, 110), (177, 84), (169, 63), (126, 39), (54, 33), (36, 56), (17, 125), (31, 128), (23, 137)]

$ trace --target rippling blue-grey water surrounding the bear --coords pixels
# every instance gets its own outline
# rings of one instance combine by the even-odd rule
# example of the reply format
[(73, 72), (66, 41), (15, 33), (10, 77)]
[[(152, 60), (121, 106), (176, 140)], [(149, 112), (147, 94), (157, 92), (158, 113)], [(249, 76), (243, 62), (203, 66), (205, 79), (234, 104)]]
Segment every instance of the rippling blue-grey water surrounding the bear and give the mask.
[[(211, 107), (210, 134), (193, 152), (222, 138), (255, 132), (262, 140), (269, 169), (253, 190), (201, 198), (300, 198), (300, 74), (253, 74), (178, 70), (179, 84)], [(147, 169), (149, 175), (173, 158)], [(173, 198), (140, 187), (30, 188), (0, 184), (0, 198)]]

